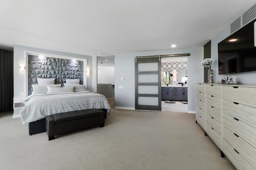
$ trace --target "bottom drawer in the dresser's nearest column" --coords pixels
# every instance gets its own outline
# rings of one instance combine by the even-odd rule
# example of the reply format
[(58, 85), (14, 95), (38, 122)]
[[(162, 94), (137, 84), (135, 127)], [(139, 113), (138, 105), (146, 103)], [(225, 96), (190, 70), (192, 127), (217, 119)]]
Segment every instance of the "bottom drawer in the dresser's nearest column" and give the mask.
[(222, 140), (222, 151), (240, 170), (255, 170), (254, 167), (239, 152), (225, 140)]

